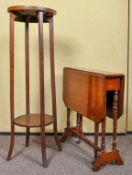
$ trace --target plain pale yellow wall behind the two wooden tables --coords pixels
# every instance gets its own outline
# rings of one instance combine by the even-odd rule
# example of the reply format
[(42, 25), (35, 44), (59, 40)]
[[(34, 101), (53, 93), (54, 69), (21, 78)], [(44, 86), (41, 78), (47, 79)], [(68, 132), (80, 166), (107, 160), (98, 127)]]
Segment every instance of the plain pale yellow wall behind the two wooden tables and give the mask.
[[(66, 109), (62, 101), (62, 70), (64, 66), (84, 67), (127, 73), (127, 0), (0, 0), (0, 131), (10, 131), (9, 112), (9, 14), (12, 5), (38, 5), (54, 8), (55, 64), (57, 85), (58, 130), (66, 125)], [(37, 25), (31, 25), (31, 110), (38, 112), (38, 39)], [(48, 26), (45, 26), (45, 44), (48, 50)], [(16, 24), (16, 84), (15, 114), (25, 113), (24, 81), (24, 25)], [(48, 51), (46, 51), (46, 65)], [(50, 80), (46, 72), (46, 111), (51, 111)], [(73, 113), (74, 115), (74, 113)], [(74, 118), (74, 117), (73, 117)], [(111, 131), (112, 121), (107, 128)], [(74, 123), (74, 122), (73, 122)], [(124, 132), (126, 117), (119, 121), (119, 132)], [(92, 122), (84, 129), (93, 131)], [(24, 131), (17, 128), (16, 131)], [(34, 129), (33, 131), (37, 131)], [(48, 127), (47, 131), (52, 131)]]

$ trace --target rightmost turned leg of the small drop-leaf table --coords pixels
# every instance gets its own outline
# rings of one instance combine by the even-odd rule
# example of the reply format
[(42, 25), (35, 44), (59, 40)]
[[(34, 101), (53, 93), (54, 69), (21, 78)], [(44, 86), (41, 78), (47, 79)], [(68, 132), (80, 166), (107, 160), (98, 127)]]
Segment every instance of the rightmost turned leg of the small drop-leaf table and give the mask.
[(118, 91), (114, 92), (113, 101), (113, 140), (112, 149), (116, 150), (116, 133), (117, 133), (117, 116), (118, 116)]

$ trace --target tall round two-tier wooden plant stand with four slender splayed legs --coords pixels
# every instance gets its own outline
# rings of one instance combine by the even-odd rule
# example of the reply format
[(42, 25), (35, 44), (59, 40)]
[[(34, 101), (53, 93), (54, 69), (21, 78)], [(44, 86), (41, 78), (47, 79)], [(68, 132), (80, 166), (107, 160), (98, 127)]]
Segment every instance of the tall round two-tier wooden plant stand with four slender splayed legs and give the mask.
[[(15, 125), (26, 127), (26, 146), (29, 145), (29, 134), (31, 127), (41, 128), (41, 151), (43, 166), (46, 167), (46, 143), (45, 126), (53, 124), (54, 137), (58, 149), (61, 150), (57, 135), (56, 114), (56, 89), (55, 89), (55, 67), (54, 67), (54, 29), (53, 16), (56, 11), (49, 8), (36, 6), (12, 6), (8, 8), (10, 13), (10, 109), (11, 109), (11, 143), (7, 160), (11, 159), (14, 147)], [(25, 80), (26, 80), (26, 114), (14, 117), (14, 22), (25, 23)], [(29, 71), (29, 23), (38, 23), (39, 32), (39, 83), (40, 83), (40, 114), (32, 114), (30, 111), (30, 71)], [(52, 93), (52, 115), (45, 114), (44, 94), (44, 44), (43, 23), (49, 23), (50, 43), (50, 70), (51, 70), (51, 93)]]

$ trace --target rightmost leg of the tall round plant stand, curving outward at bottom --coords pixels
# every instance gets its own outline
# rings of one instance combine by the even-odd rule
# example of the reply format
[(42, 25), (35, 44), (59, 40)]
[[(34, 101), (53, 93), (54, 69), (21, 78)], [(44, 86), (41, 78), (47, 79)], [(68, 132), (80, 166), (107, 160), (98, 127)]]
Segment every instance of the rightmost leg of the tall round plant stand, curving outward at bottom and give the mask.
[(56, 110), (56, 87), (55, 87), (55, 65), (54, 65), (54, 25), (53, 18), (50, 19), (49, 23), (49, 39), (50, 39), (50, 70), (51, 70), (51, 93), (52, 93), (52, 113), (54, 117), (53, 129), (54, 137), (58, 147), (61, 150), (57, 134), (57, 110)]

